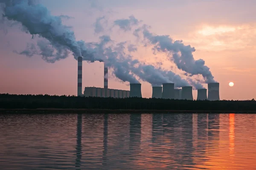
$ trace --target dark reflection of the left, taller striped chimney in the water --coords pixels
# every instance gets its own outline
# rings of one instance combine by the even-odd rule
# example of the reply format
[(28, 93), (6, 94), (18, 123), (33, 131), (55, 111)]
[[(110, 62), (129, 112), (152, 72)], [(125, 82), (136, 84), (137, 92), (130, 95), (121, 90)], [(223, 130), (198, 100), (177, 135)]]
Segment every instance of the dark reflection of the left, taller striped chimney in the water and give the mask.
[[(82, 137), (82, 115), (77, 115), (77, 129), (76, 129), (76, 167), (79, 168), (81, 166), (81, 137)], [(76, 169), (76, 170), (80, 170)]]

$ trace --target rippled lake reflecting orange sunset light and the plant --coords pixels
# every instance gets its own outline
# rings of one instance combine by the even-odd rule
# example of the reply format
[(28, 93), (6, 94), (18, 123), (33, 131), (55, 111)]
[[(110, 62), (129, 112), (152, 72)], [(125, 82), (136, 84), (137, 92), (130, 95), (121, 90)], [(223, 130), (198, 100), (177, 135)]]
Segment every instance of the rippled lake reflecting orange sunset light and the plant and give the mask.
[(252, 170), (256, 114), (0, 114), (1, 170)]

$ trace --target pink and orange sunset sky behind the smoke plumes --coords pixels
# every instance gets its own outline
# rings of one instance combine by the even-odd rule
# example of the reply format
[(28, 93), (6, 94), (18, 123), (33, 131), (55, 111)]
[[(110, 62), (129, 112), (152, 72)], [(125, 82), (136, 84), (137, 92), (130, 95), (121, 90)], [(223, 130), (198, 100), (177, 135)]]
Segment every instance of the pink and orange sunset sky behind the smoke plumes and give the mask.
[[(195, 47), (195, 59), (204, 59), (215, 80), (220, 83), (221, 99), (253, 99), (256, 79), (255, 36), (256, 11), (254, 0), (37, 0), (53, 15), (67, 15), (63, 23), (72, 26), (77, 40), (97, 42), (99, 36), (111, 34), (115, 42), (135, 43), (132, 32), (108, 29), (116, 19), (134, 15), (150, 31), (183, 40)], [(98, 17), (108, 23), (102, 33), (94, 32)], [(108, 27), (108, 28), (107, 28)], [(76, 95), (77, 61), (69, 57), (47, 63), (41, 56), (26, 57), (13, 51), (23, 51), (26, 44), (36, 42), (32, 35), (22, 31), (19, 24), (0, 23), (0, 93)], [(182, 72), (166, 61), (166, 54), (153, 54), (150, 47), (138, 46), (134, 58), (148, 63), (163, 62), (163, 66), (177, 74)], [(111, 71), (110, 71), (111, 72)], [(103, 87), (103, 63), (83, 62), (83, 87)], [(151, 97), (151, 85), (142, 83), (143, 97)], [(128, 82), (110, 75), (109, 88), (129, 90)], [(229, 82), (234, 82), (229, 87)], [(207, 85), (204, 84), (207, 88)], [(193, 91), (196, 99), (197, 91)]]

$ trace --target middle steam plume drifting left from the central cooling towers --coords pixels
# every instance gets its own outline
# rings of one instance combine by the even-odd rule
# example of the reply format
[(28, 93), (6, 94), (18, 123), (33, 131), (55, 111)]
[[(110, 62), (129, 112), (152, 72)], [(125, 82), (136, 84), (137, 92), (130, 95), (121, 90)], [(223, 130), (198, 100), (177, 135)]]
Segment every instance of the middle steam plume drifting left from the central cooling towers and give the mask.
[[(162, 85), (171, 82), (168, 77), (160, 74), (153, 65), (140, 63), (137, 59), (125, 53), (126, 43), (120, 42), (117, 45), (109, 45), (113, 42), (109, 36), (100, 37), (99, 43), (90, 43), (90, 48), (95, 51), (95, 56), (102, 56), (105, 65), (113, 68), (113, 74), (122, 81), (138, 83), (135, 76), (141, 80), (151, 83), (151, 85)], [(106, 45), (109, 45), (108, 47)], [(128, 45), (129, 48), (130, 45)], [(128, 49), (129, 51), (129, 49)]]

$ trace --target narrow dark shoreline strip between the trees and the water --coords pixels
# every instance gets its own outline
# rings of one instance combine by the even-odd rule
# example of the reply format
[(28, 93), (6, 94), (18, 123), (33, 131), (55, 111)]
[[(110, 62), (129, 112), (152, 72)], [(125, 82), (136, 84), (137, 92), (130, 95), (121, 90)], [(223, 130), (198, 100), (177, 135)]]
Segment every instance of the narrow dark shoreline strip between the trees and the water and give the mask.
[(0, 113), (256, 113), (256, 111), (189, 111), (189, 110), (133, 110), (133, 109), (0, 109)]

